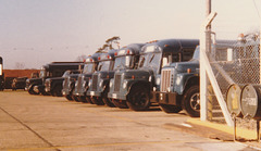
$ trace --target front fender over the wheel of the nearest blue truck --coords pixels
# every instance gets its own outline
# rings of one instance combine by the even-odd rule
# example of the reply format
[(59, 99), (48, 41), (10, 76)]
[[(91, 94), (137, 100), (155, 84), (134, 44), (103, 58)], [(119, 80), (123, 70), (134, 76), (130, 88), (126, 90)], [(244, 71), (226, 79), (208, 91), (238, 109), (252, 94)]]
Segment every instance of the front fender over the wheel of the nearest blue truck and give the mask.
[(175, 85), (173, 91), (177, 92), (178, 95), (183, 95), (184, 90), (186, 89), (187, 85), (189, 85), (189, 83), (199, 84), (199, 75), (192, 73), (177, 74), (174, 81)]

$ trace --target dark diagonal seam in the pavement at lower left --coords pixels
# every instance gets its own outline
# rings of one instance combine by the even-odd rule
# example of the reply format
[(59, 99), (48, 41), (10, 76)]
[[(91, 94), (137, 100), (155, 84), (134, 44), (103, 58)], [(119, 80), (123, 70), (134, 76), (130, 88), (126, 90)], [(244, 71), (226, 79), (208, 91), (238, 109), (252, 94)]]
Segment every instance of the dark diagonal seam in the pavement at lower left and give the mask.
[[(23, 125), (24, 127), (26, 127), (28, 130), (30, 130), (33, 134), (35, 134), (39, 139), (41, 139), (44, 142), (46, 142), (48, 146), (55, 148), (51, 142), (49, 142), (47, 139), (45, 139), (42, 136), (40, 136), (38, 133), (36, 133), (34, 129), (32, 129), (28, 125), (26, 125), (25, 123), (23, 123), (22, 121), (20, 121), (18, 118), (16, 118), (15, 116), (13, 116), (12, 114), (10, 114), (8, 111), (5, 111), (4, 109), (2, 109), (0, 106), (0, 110), (2, 110), (2, 112), (4, 112), (5, 114), (8, 114), (10, 117), (12, 117), (13, 119), (15, 119), (16, 122), (18, 122), (21, 125)], [(57, 151), (60, 151), (59, 149), (55, 148)]]

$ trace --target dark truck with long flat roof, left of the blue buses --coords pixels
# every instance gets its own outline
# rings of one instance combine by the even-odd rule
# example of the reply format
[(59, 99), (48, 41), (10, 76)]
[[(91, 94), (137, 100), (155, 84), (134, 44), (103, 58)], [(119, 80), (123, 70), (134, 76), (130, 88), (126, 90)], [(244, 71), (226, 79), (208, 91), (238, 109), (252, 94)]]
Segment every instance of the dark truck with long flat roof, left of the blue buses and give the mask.
[(52, 62), (41, 67), (39, 78), (26, 79), (26, 87), (30, 95), (48, 95), (45, 91), (45, 81), (50, 77), (61, 77), (67, 70), (78, 70), (83, 62)]

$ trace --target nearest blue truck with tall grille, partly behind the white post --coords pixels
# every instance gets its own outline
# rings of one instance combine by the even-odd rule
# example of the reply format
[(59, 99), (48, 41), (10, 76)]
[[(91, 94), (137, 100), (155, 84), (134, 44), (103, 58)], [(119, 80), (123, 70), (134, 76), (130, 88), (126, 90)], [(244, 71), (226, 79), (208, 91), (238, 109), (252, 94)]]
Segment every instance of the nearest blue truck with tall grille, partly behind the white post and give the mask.
[[(210, 55), (215, 61), (229, 61), (233, 43), (235, 41), (217, 40), (212, 45)], [(184, 110), (191, 117), (200, 116), (199, 52), (198, 46), (190, 61), (175, 62), (162, 68), (160, 91), (154, 91), (154, 96), (164, 112), (178, 113)], [(223, 67), (229, 65), (227, 62)]]

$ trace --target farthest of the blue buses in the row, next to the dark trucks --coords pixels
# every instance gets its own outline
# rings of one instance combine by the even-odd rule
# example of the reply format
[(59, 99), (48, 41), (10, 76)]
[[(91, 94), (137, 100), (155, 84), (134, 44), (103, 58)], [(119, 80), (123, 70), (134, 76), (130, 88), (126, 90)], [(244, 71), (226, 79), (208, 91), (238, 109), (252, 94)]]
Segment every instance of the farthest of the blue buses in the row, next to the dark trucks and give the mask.
[[(79, 98), (77, 96), (73, 95), (73, 91), (75, 89), (75, 81), (77, 80), (77, 78), (84, 77), (86, 79), (86, 81), (89, 80), (89, 77), (91, 77), (92, 73), (97, 70), (97, 66), (99, 64), (98, 62), (98, 58), (99, 58), (100, 53), (95, 53), (92, 55), (89, 55), (86, 58), (85, 60), (85, 64), (84, 64), (84, 70), (82, 74), (70, 74), (66, 75), (64, 77), (63, 80), (63, 89), (62, 89), (62, 95), (69, 100), (75, 100), (75, 101), (85, 101), (85, 98)], [(87, 84), (82, 84), (82, 85), (87, 85)], [(85, 92), (85, 90), (83, 90), (83, 92)], [(82, 93), (82, 91), (78, 91), (78, 93)]]

